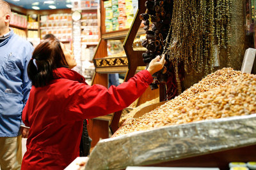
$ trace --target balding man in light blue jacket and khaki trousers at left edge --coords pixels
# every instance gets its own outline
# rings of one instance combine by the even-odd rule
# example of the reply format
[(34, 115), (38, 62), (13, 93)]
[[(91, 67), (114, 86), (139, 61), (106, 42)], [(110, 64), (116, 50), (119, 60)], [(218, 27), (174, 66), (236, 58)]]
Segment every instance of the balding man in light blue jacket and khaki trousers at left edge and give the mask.
[(28, 127), (21, 120), (31, 82), (27, 74), (33, 46), (9, 27), (11, 10), (0, 0), (0, 166), (20, 169), (21, 139), (28, 138)]

